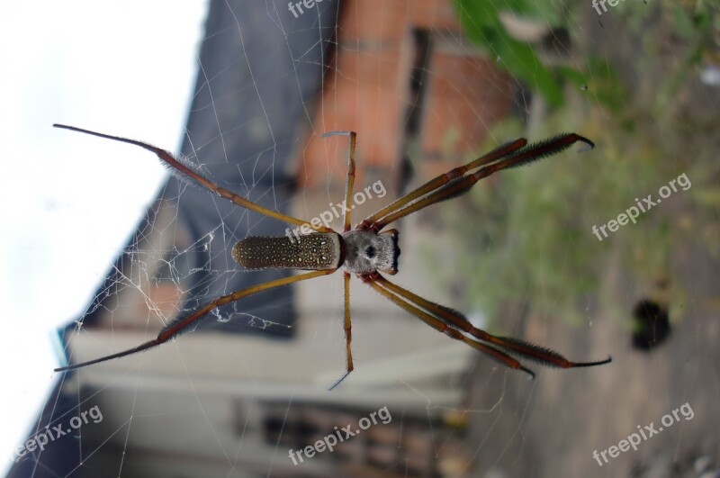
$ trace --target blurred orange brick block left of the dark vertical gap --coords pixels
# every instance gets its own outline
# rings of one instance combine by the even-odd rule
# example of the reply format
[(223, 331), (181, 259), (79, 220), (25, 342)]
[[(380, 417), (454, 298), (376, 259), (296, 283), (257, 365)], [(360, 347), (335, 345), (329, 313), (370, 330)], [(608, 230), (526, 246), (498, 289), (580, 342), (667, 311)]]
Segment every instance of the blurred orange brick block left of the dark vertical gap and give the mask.
[[(372, 10), (375, 7), (368, 2), (356, 5), (356, 11)], [(348, 8), (348, 11), (353, 11)], [(404, 14), (404, 10), (401, 10)], [(364, 18), (375, 13), (361, 14)], [(354, 18), (344, 15), (347, 22)], [(365, 20), (365, 22), (371, 22)], [(410, 67), (412, 58), (412, 39), (410, 31), (401, 27), (387, 26), (397, 38), (385, 35), (385, 27), (375, 25), (368, 35), (374, 40), (383, 37), (385, 41), (366, 41), (347, 43), (338, 48), (333, 67), (325, 78), (319, 110), (314, 116), (315, 132), (303, 151), (300, 183), (302, 187), (341, 186), (347, 172), (347, 143), (329, 146), (329, 140), (320, 138), (326, 131), (356, 131), (358, 148), (356, 154), (356, 181), (364, 184), (365, 169), (374, 167), (386, 169), (389, 183), (394, 184), (392, 176), (397, 174), (401, 145), (404, 138), (401, 131), (404, 115), (409, 103)], [(344, 30), (342, 26), (340, 30)], [(356, 29), (365, 33), (365, 29)], [(397, 35), (401, 32), (402, 35)], [(378, 36), (380, 35), (380, 36)], [(383, 36), (384, 35), (384, 36)], [(368, 37), (370, 38), (370, 37)]]

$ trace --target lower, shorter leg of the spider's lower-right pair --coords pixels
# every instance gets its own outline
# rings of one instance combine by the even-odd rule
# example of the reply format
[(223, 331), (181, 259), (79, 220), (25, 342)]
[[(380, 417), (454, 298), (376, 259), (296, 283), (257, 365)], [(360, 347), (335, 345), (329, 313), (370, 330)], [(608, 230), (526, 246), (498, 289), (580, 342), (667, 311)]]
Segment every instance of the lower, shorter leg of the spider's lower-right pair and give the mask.
[(491, 356), (501, 364), (507, 365), (510, 368), (514, 368), (516, 370), (522, 370), (526, 374), (529, 374), (530, 378), (535, 378), (535, 374), (533, 373), (533, 371), (529, 368), (524, 367), (515, 358), (509, 356), (507, 353), (499, 350), (496, 347), (483, 344), (482, 342), (474, 340), (473, 338), (464, 336), (460, 331), (458, 331), (457, 329), (453, 329), (448, 324), (446, 324), (446, 322), (440, 320), (436, 315), (428, 313), (428, 311), (420, 310), (418, 307), (410, 303), (408, 298), (401, 297), (400, 294), (393, 293), (390, 288), (385, 287), (387, 281), (382, 279), (383, 276), (379, 273), (373, 273), (362, 277), (363, 282), (370, 285), (370, 287), (372, 287), (377, 293), (380, 293), (402, 309), (409, 311), (412, 315), (416, 316), (419, 320), (427, 323), (430, 327), (436, 329), (438, 332), (446, 334), (446, 336), (448, 336), (449, 338), (455, 338), (455, 340), (460, 340), (461, 342), (466, 343), (470, 347), (476, 348), (482, 353)]

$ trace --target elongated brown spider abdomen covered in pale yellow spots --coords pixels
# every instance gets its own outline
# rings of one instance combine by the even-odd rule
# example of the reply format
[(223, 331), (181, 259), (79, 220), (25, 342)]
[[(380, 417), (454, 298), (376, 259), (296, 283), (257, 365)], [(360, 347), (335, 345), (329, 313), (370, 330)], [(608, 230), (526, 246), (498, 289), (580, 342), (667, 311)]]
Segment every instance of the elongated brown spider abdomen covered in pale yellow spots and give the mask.
[(342, 265), (342, 238), (332, 232), (290, 238), (250, 236), (232, 248), (232, 257), (246, 269), (337, 269)]

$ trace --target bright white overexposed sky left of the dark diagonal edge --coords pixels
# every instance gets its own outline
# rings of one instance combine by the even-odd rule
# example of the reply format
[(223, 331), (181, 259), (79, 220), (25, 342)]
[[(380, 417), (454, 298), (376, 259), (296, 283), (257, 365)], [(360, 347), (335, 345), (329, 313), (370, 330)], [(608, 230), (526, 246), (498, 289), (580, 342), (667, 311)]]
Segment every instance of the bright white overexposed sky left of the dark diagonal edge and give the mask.
[(167, 175), (147, 151), (52, 124), (176, 151), (206, 8), (206, 0), (0, 6), (3, 475), (58, 379), (57, 329), (83, 314)]

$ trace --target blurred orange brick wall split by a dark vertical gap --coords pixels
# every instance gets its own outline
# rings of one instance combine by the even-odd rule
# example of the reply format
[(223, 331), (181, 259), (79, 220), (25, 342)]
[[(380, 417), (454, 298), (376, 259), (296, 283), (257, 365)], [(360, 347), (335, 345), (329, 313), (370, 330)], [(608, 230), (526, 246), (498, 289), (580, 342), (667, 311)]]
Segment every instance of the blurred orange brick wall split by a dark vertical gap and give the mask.
[(365, 184), (365, 170), (372, 167), (375, 176), (396, 184), (417, 53), (412, 31), (419, 28), (434, 33), (421, 105), (423, 176), (435, 176), (478, 149), (491, 124), (509, 112), (509, 77), (469, 44), (460, 52), (444, 45), (444, 38), (461, 36), (452, 0), (347, 0), (335, 59), (313, 113), (317, 134), (302, 150), (301, 187), (343, 187), (347, 140), (320, 134), (348, 130), (358, 133), (356, 183)]

